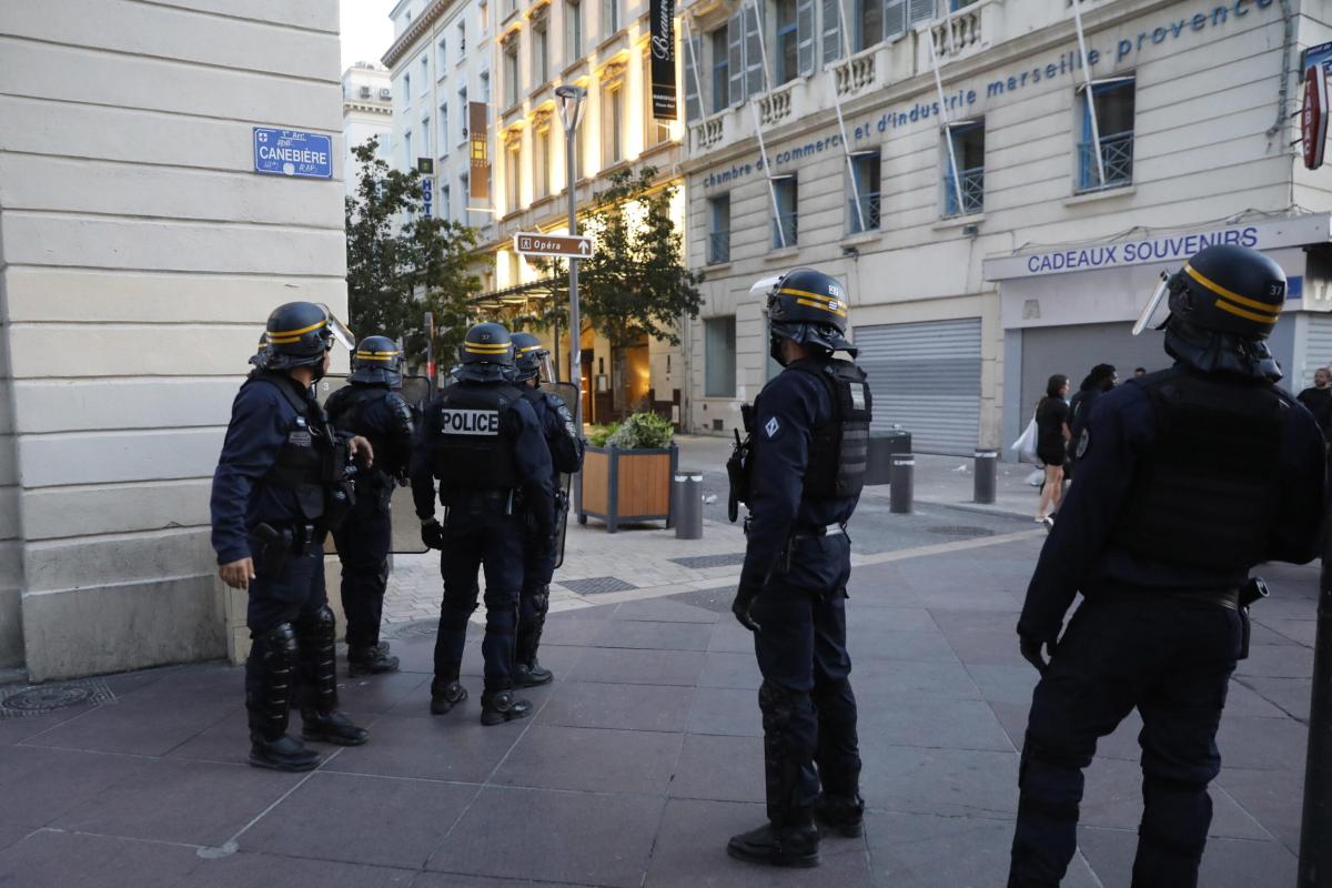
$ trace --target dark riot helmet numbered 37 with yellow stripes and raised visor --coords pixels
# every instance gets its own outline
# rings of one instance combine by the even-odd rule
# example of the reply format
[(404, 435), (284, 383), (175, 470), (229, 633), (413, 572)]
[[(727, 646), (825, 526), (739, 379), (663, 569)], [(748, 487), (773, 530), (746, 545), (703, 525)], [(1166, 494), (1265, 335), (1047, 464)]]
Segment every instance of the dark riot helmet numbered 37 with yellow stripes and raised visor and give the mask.
[(1204, 248), (1163, 281), (1144, 320), (1163, 294), (1169, 297), (1162, 326), (1172, 357), (1204, 371), (1281, 378), (1265, 339), (1281, 317), (1285, 272), (1271, 257), (1231, 244)]

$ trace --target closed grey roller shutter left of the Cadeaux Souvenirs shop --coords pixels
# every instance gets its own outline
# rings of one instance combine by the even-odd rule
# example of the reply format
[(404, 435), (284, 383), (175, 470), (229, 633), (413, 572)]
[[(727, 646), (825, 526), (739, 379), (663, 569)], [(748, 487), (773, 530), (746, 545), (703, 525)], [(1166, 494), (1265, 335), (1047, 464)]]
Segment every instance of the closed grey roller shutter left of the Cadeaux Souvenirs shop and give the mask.
[(971, 454), (980, 439), (980, 318), (858, 326), (874, 430), (899, 425), (916, 453)]

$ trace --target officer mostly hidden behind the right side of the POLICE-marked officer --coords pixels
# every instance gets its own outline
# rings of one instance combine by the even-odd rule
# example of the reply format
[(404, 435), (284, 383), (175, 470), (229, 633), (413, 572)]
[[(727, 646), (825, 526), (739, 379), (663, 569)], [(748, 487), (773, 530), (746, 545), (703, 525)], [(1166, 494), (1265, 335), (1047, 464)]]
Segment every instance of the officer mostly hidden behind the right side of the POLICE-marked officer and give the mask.
[[(571, 475), (582, 467), (582, 439), (574, 430), (574, 418), (563, 399), (553, 393), (542, 391), (542, 365), (550, 374), (550, 351), (530, 333), (513, 334), (513, 359), (517, 367), (515, 381), (522, 397), (531, 405), (541, 423), (550, 461), (554, 467), (551, 487), (557, 497), (555, 527), (559, 527), (561, 513), (567, 513), (569, 502), (563, 495), (559, 475)], [(537, 662), (537, 646), (541, 643), (541, 630), (546, 624), (546, 611), (550, 607), (550, 578), (555, 571), (558, 541), (537, 539), (537, 522), (529, 521), (529, 539), (523, 549), (522, 592), (518, 596), (518, 640), (517, 659), (513, 667), (514, 687), (535, 687), (546, 684), (555, 676)]]

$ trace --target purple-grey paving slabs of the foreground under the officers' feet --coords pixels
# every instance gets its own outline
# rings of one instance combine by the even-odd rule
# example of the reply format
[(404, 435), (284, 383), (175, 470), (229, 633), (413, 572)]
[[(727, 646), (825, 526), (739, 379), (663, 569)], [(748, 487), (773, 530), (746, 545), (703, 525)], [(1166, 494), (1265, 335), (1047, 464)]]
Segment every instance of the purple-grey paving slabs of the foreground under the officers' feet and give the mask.
[[(494, 728), (476, 696), (428, 715), (433, 639), (408, 632), (394, 640), (404, 672), (344, 686), (370, 743), (325, 748), (309, 775), (242, 764), (237, 668), (41, 688), (87, 702), (0, 718), (0, 884), (992, 888), (1035, 680), (1012, 626), (1039, 543), (995, 534), (862, 556), (848, 623), (867, 835), (827, 840), (818, 871), (725, 853), (763, 819), (758, 674), (729, 595), (694, 590), (553, 615), (542, 660), (558, 680), (531, 692), (534, 718)], [(1293, 883), (1316, 571), (1268, 576), (1220, 735), (1208, 888)], [(476, 639), (465, 667), (476, 695)], [(1071, 888), (1128, 884), (1136, 727), (1090, 770)]]

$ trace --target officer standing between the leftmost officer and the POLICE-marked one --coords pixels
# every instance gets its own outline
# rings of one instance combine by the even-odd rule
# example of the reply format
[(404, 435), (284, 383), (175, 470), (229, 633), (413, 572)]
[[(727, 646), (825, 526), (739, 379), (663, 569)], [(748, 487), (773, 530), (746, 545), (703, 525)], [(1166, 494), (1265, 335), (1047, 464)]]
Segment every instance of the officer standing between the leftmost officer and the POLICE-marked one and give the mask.
[(329, 422), (365, 437), (376, 454), (374, 469), (357, 479), (352, 513), (333, 534), (342, 560), (348, 675), (356, 676), (398, 668), (388, 643), (380, 643), (380, 620), (389, 582), (389, 503), (394, 486), (406, 483), (414, 430), (412, 409), (400, 394), (402, 351), (397, 342), (385, 335), (362, 339), (352, 354), (348, 383), (325, 403)]

